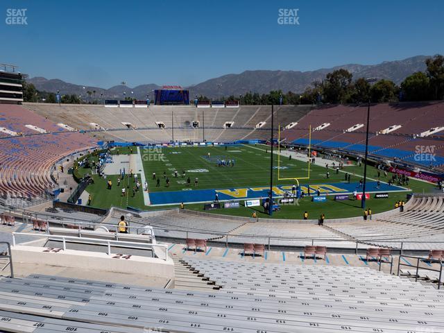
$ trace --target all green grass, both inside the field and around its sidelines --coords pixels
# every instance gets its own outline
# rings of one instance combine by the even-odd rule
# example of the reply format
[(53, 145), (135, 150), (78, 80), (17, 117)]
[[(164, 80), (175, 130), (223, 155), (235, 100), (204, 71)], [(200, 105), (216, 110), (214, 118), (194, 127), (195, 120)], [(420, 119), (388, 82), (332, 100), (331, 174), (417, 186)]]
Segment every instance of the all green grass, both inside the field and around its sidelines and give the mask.
[[(267, 152), (268, 151), (268, 152)], [(211, 147), (180, 147), (180, 148), (151, 148), (141, 149), (142, 161), (144, 165), (144, 173), (148, 181), (150, 192), (156, 191), (182, 191), (187, 188), (186, 180), (191, 178), (191, 190), (194, 178), (198, 177), (197, 189), (228, 189), (241, 187), (262, 187), (269, 185), (271, 160), (269, 153), (270, 147), (263, 145), (241, 145), (241, 146), (211, 146)], [(117, 153), (117, 148), (112, 150), (113, 154)], [(130, 153), (130, 148), (119, 148), (119, 153)], [(133, 148), (133, 154), (137, 153), (137, 149)], [(210, 153), (210, 158), (208, 157)], [(275, 155), (274, 167), (278, 166), (278, 160)], [(233, 160), (234, 167), (217, 167), (216, 160), (225, 159)], [(305, 178), (308, 175), (308, 164), (299, 160), (289, 160), (289, 157), (282, 157), (280, 167), (287, 169), (280, 170), (281, 178)], [(177, 170), (179, 177), (173, 177), (173, 171)], [(182, 178), (182, 171), (185, 171), (185, 178)], [(192, 172), (199, 171), (199, 172)], [(205, 172), (204, 172), (205, 171)], [(345, 167), (344, 171), (352, 173), (352, 182), (358, 182), (364, 172), (364, 167), (352, 165)], [(89, 169), (78, 169), (80, 176), (89, 172)], [(152, 173), (155, 172), (157, 177), (161, 178), (160, 187), (156, 187), (156, 181), (152, 179)], [(163, 173), (167, 174), (170, 179), (170, 186), (166, 186)], [(329, 184), (344, 182), (344, 173), (336, 173), (330, 169), (330, 178), (325, 176), (325, 167), (317, 165), (310, 166), (309, 180), (300, 180), (300, 184)], [(391, 174), (388, 174), (390, 177)], [(374, 167), (368, 167), (368, 178), (377, 178), (377, 170)], [(112, 189), (107, 189), (106, 180), (94, 176), (94, 185), (89, 185), (87, 191), (92, 194), (92, 206), (109, 208), (114, 205), (117, 207), (138, 207), (143, 210), (162, 209), (162, 206), (149, 207), (144, 205), (142, 192), (139, 191), (132, 196), (133, 180), (126, 177), (121, 184), (130, 186), (130, 196), (121, 196), (121, 187), (117, 187), (117, 176), (109, 176), (112, 179)], [(382, 181), (384, 175), (381, 177)], [(293, 180), (278, 180), (278, 170), (273, 170), (273, 185), (292, 185)], [(436, 187), (432, 184), (411, 180), (409, 183), (411, 191), (415, 193), (430, 193), (436, 191)], [(408, 191), (393, 192), (389, 194), (388, 199), (369, 200), (368, 207), (373, 213), (384, 212), (393, 208), (396, 200), (405, 200)], [(327, 219), (338, 217), (361, 216), (362, 210), (360, 201), (345, 200), (334, 201), (333, 196), (327, 198), (326, 203), (313, 203), (309, 198), (300, 200), (299, 205), (283, 205), (280, 212), (275, 212), (273, 218), (276, 219), (300, 219), (303, 212), (307, 210), (311, 217), (317, 218), (319, 214), (326, 214)], [(166, 206), (171, 207), (171, 206)], [(203, 210), (203, 204), (186, 205), (190, 210)], [(268, 218), (267, 214), (262, 212), (262, 207), (254, 207), (257, 209), (259, 217)], [(231, 210), (213, 210), (212, 214), (229, 214), (238, 216), (250, 216), (253, 212), (252, 208), (241, 205), (238, 209)]]

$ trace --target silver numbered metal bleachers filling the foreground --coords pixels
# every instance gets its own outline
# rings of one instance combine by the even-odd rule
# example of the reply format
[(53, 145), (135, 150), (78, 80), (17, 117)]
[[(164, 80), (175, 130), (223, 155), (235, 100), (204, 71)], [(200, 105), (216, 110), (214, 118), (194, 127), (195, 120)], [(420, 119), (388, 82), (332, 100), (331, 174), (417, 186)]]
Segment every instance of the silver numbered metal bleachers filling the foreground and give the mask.
[(211, 293), (48, 275), (1, 278), (0, 330), (444, 332), (444, 292), (395, 275), (350, 266), (184, 260), (223, 288)]

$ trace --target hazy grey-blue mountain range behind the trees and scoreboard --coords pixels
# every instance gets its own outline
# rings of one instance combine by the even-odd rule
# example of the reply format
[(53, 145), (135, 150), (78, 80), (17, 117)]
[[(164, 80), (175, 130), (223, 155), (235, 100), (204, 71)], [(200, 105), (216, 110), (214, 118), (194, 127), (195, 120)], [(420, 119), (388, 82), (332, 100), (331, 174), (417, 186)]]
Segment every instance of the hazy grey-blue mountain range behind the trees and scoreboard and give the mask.
[[(410, 74), (416, 71), (425, 71), (425, 60), (427, 58), (430, 57), (415, 56), (404, 60), (384, 61), (377, 65), (348, 64), (317, 69), (316, 71), (244, 71), (241, 74), (227, 74), (219, 78), (211, 78), (202, 83), (185, 87), (185, 89), (190, 90), (190, 96), (202, 94), (212, 99), (218, 99), (220, 96), (239, 96), (239, 94), (245, 94), (246, 92), (265, 94), (277, 89), (282, 89), (282, 92), (302, 93), (314, 80), (322, 80), (327, 73), (341, 68), (350, 71), (354, 79), (361, 77), (386, 78), (399, 85)], [(95, 91), (91, 99), (123, 99), (123, 96), (146, 99), (147, 94), (153, 96), (153, 89), (160, 88), (160, 85), (151, 83), (138, 85), (137, 87), (115, 85), (109, 89), (103, 89), (101, 87), (75, 85), (58, 78), (48, 80), (42, 77), (30, 78), (27, 82), (33, 83), (40, 91), (57, 92), (57, 90), (60, 90), (61, 94), (77, 94), (81, 95), (83, 99), (88, 99), (87, 91)]]

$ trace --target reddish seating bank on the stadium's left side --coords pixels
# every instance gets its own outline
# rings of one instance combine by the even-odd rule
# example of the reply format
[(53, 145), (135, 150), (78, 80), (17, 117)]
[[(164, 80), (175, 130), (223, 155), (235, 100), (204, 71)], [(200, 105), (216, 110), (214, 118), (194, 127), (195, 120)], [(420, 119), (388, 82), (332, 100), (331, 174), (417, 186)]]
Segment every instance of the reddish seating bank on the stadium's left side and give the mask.
[[(2, 127), (19, 134), (0, 137), (0, 195), (35, 198), (54, 187), (51, 168), (62, 157), (92, 148), (86, 135), (71, 133), (19, 105), (0, 105)], [(47, 133), (26, 127), (31, 124)], [(4, 133), (3, 133), (4, 134)]]

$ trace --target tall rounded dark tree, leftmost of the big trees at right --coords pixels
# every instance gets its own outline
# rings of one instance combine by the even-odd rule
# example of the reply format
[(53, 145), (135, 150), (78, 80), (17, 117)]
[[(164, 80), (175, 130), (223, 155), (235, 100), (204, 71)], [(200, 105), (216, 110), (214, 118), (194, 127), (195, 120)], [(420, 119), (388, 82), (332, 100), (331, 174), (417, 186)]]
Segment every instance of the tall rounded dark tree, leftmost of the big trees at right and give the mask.
[(323, 81), (323, 101), (345, 103), (350, 96), (353, 75), (346, 69), (337, 69), (327, 74)]

